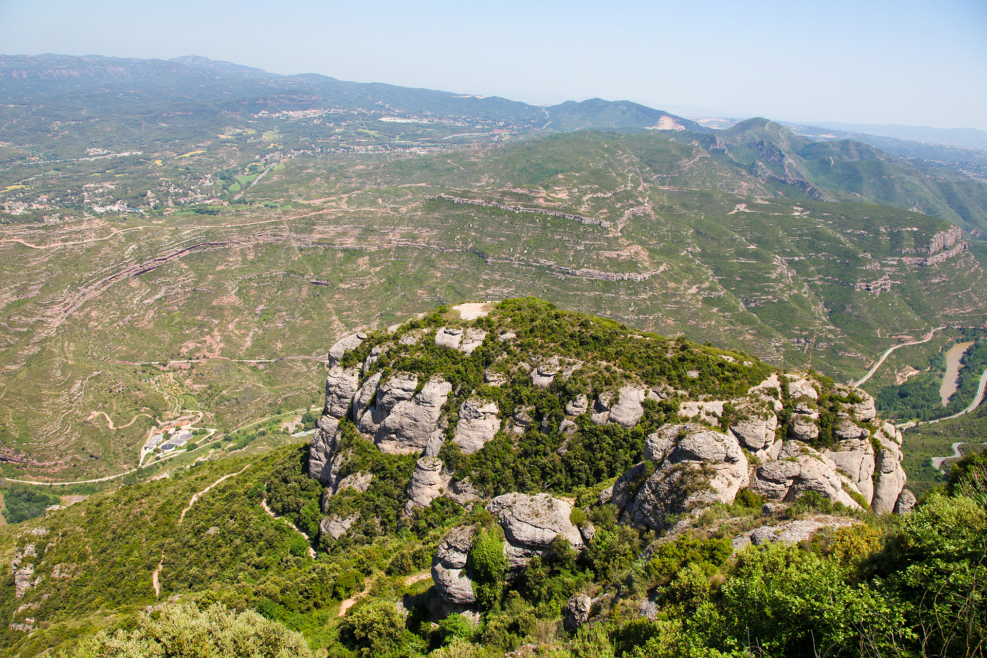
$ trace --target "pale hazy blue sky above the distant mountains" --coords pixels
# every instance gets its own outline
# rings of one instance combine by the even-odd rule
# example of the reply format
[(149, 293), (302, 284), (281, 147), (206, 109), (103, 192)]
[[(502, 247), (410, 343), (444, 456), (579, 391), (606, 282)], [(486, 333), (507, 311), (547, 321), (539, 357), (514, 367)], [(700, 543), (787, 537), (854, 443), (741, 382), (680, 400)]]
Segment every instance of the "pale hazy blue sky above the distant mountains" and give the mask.
[(0, 0), (0, 52), (987, 129), (987, 0)]

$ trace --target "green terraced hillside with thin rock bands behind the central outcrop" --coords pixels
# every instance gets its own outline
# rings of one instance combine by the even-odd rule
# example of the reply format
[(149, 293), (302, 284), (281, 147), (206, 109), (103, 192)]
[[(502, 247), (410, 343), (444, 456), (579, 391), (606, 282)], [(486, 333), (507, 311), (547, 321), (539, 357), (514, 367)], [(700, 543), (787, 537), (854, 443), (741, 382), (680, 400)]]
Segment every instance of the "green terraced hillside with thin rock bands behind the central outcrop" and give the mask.
[(949, 223), (731, 167), (581, 132), (289, 159), (217, 214), (7, 225), (4, 468), (110, 475), (182, 409), (232, 429), (307, 406), (325, 344), (436, 303), (538, 295), (843, 381), (904, 336), (984, 325), (983, 249)]

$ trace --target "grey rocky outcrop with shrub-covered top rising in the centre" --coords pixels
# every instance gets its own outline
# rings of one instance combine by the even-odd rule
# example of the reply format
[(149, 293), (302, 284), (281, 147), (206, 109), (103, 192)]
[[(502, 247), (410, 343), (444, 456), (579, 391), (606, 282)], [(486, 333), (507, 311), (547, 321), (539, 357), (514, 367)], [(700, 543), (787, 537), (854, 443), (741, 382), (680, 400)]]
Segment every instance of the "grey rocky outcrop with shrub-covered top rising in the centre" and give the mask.
[[(560, 538), (576, 551), (586, 546), (595, 532), (587, 512), (603, 506), (660, 534), (740, 491), (783, 510), (806, 495), (875, 514), (914, 504), (903, 488), (902, 435), (860, 389), (539, 300), (488, 305), (470, 321), (458, 315), (443, 308), (334, 345), (309, 457), (309, 474), (327, 487), (324, 509), (374, 481), (355, 458), (370, 443), (418, 456), (405, 514), (439, 498), (484, 507), (510, 569)], [(502, 476), (519, 469), (527, 481)], [(323, 523), (338, 539), (354, 521), (337, 514)], [(796, 521), (779, 536), (805, 539), (846, 523)], [(765, 532), (739, 544), (765, 541)], [(475, 533), (456, 528), (435, 553), (432, 577), (447, 604), (476, 602)]]

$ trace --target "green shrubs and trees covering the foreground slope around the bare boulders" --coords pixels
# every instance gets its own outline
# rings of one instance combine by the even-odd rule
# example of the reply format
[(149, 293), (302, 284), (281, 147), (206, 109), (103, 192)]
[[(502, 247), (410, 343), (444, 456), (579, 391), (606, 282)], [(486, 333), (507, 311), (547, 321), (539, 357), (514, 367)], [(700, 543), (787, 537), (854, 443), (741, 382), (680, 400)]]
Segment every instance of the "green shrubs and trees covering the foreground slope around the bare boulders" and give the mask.
[[(401, 341), (456, 324), (482, 328), (488, 336), (469, 355), (434, 341)], [(500, 341), (506, 333), (514, 337)], [(375, 350), (389, 343), (387, 351)], [(538, 388), (527, 370), (513, 370), (536, 356), (583, 365), (568, 378)], [(337, 449), (348, 457), (341, 475), (376, 475), (363, 491), (350, 487), (327, 495), (307, 476), (305, 445), (250, 462), (206, 462), (168, 478), (94, 494), (28, 527), (0, 531), (5, 554), (14, 550), (19, 565), (33, 564), (31, 581), (42, 576), (21, 595), (15, 591), (16, 578), (2, 585), (8, 623), (35, 626), (28, 635), (5, 624), (0, 636), (5, 646), (24, 656), (49, 646), (70, 649), (77, 638), (103, 627), (109, 634), (83, 642), (80, 656), (94, 646), (114, 651), (124, 645), (130, 656), (156, 655), (147, 630), (137, 629), (158, 632), (155, 628), (165, 626), (148, 625), (138, 613), (177, 597), (196, 602), (203, 611), (186, 609), (181, 615), (189, 619), (214, 615), (207, 612), (214, 603), (233, 611), (256, 610), (302, 632), (317, 652), (340, 658), (493, 658), (525, 643), (559, 658), (814, 656), (817, 651), (953, 655), (967, 643), (972, 647), (968, 655), (982, 653), (981, 609), (969, 603), (980, 596), (987, 521), (982, 507), (964, 497), (975, 493), (975, 479), (973, 489), (963, 489), (966, 493), (954, 487), (948, 495), (930, 495), (901, 519), (850, 512), (809, 493), (787, 510), (766, 514), (763, 498), (742, 489), (732, 504), (687, 515), (663, 538), (620, 523), (614, 505), (600, 504), (600, 489), (641, 460), (645, 432), (675, 421), (681, 402), (702, 402), (698, 399), (711, 395), (705, 391), (739, 395), (769, 375), (784, 374), (757, 359), (635, 333), (534, 299), (503, 302), (475, 321), (460, 321), (456, 312), (440, 308), (396, 331), (370, 333), (342, 356), (340, 367), (363, 370), (367, 357), (377, 357), (365, 370), (367, 378), (390, 371), (414, 372), (421, 385), (433, 376), (454, 381), (448, 434), (460, 422), (455, 410), (461, 402), (481, 393), (503, 408), (533, 407), (532, 422), (522, 434), (501, 432), (472, 455), (457, 454), (456, 444), (447, 441), (441, 456), (461, 460), (457, 469), (469, 472), (487, 495), (545, 490), (565, 495), (575, 505), (570, 522), (592, 528), (592, 536), (586, 535), (578, 549), (557, 538), (523, 567), (508, 568), (502, 557), (506, 538), (483, 503), (470, 510), (471, 504), (439, 497), (409, 512), (406, 485), (414, 456), (384, 454), (360, 436), (352, 420), (342, 420)], [(719, 367), (721, 362), (730, 367)], [(674, 406), (667, 400), (647, 404), (633, 429), (580, 423), (577, 434), (569, 436), (569, 451), (560, 455), (556, 421), (565, 411), (560, 400), (644, 382), (635, 364), (647, 373), (649, 386), (675, 381), (693, 388), (667, 399)], [(712, 372), (691, 377), (693, 368)], [(680, 369), (686, 374), (680, 376)], [(506, 381), (499, 386), (485, 382), (489, 370)], [(782, 378), (777, 390), (780, 416), (797, 414), (799, 404), (806, 403), (803, 395), (788, 390), (789, 381)], [(827, 423), (842, 418), (846, 406), (841, 404), (862, 401), (824, 378), (814, 381), (820, 429), (833, 431), (835, 424)], [(567, 462), (569, 454), (573, 457)], [(959, 472), (975, 475), (977, 465)], [(192, 494), (224, 475), (232, 476), (187, 509)], [(968, 486), (971, 478), (963, 481)], [(271, 518), (265, 505), (284, 518)], [(339, 539), (322, 533), (310, 544), (292, 526), (315, 540), (322, 532), (321, 513), (355, 514), (356, 519)], [(777, 536), (788, 532), (792, 522), (824, 518), (839, 524), (798, 544), (734, 546), (746, 533), (764, 529)], [(465, 568), (476, 583), (478, 606), (432, 623), (437, 595), (431, 581), (409, 577), (417, 578), (433, 563), (436, 546), (456, 529), (475, 529)], [(310, 548), (316, 549), (315, 558)], [(159, 562), (162, 590), (156, 597), (152, 573)], [(340, 601), (364, 589), (367, 594), (339, 618)], [(930, 602), (930, 592), (938, 592), (935, 601)], [(563, 623), (569, 619), (564, 609), (579, 596), (588, 602), (588, 621), (570, 631)], [(109, 613), (115, 621), (104, 619)], [(930, 616), (936, 623), (926, 623)], [(175, 615), (163, 614), (162, 620), (166, 617)], [(265, 632), (287, 637), (274, 626)]]

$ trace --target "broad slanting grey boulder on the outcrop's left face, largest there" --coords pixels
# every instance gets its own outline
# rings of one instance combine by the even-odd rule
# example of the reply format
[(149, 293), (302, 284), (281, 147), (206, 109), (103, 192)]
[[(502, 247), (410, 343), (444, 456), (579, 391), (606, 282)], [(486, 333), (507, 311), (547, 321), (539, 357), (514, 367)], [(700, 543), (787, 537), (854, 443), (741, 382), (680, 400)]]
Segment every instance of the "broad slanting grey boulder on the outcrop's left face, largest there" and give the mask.
[(374, 436), (377, 448), (390, 455), (421, 452), (437, 429), (450, 393), (452, 385), (436, 375), (414, 398), (395, 404)]

